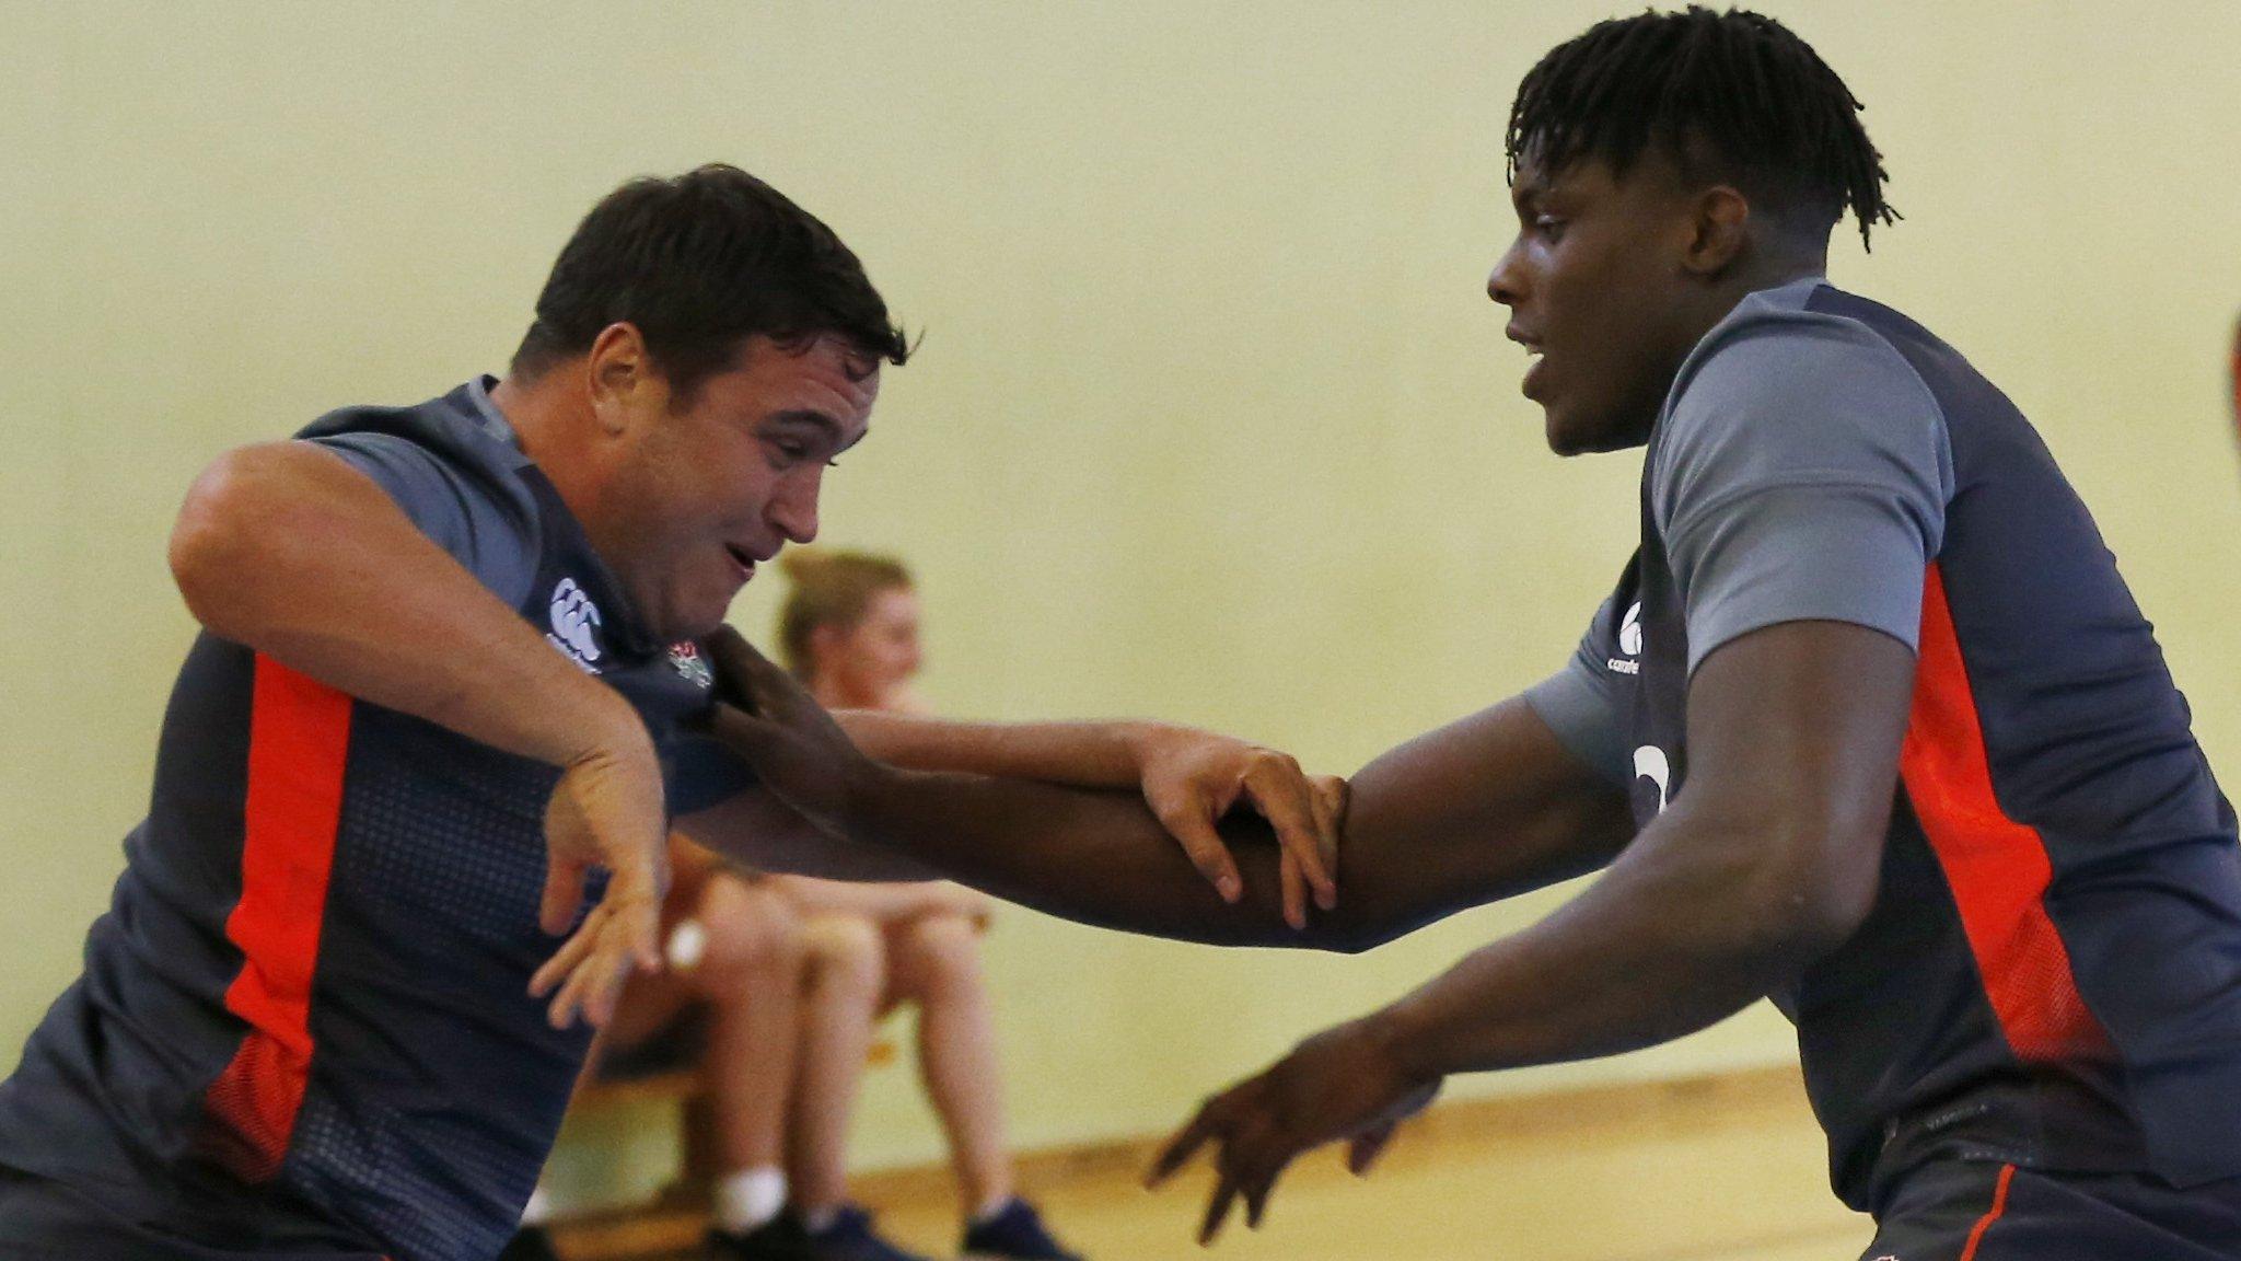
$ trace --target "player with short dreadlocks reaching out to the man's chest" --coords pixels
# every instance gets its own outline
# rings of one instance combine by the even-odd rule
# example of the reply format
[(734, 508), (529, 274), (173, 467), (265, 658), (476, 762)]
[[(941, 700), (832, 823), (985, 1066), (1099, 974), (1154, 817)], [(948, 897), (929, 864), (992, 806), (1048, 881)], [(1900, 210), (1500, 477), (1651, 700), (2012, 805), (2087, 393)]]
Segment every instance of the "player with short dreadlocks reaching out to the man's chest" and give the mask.
[(1367, 1167), (1450, 1073), (1614, 1055), (1770, 996), (1869, 1257), (2210, 1261), (2241, 1241), (2234, 814), (2091, 516), (2017, 408), (1829, 231), (1896, 215), (1858, 103), (1770, 18), (1551, 52), (1488, 280), (1557, 453), (1647, 447), (1640, 550), (1555, 678), (1376, 758), (1336, 911), (1273, 859), (1212, 904), (1114, 799), (908, 774), (722, 642), (719, 736), (836, 835), (1047, 911), (1363, 949), (1607, 868), (1544, 922), (1212, 1097), (1259, 1221), (1300, 1153)]

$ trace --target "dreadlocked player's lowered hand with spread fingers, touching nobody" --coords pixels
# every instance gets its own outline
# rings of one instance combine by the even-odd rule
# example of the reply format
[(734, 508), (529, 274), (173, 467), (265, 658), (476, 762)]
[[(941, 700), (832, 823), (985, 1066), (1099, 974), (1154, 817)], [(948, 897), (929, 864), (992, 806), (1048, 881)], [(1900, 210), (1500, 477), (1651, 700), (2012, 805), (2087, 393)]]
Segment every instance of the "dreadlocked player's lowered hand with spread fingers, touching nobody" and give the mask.
[(1347, 1142), (1347, 1169), (1367, 1173), (1401, 1120), (1423, 1111), (1439, 1077), (1414, 1079), (1392, 1055), (1392, 1032), (1367, 1016), (1324, 1030), (1257, 1077), (1208, 1099), (1168, 1147), (1145, 1185), (1174, 1176), (1201, 1147), (1215, 1147), (1215, 1194), (1199, 1225), (1212, 1243), (1244, 1198), (1246, 1225), (1259, 1227), (1275, 1180), (1304, 1151)]

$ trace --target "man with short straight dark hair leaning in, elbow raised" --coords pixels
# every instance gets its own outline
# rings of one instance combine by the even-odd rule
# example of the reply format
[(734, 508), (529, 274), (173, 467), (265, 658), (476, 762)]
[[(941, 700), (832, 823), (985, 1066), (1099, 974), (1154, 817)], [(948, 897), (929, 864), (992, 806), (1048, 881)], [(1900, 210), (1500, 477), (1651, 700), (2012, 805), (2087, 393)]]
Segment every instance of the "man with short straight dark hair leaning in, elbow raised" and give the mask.
[[(816, 534), (905, 357), (822, 222), (706, 166), (585, 218), (504, 381), (220, 458), (170, 541), (204, 633), (148, 819), (0, 1084), (0, 1257), (484, 1261), (583, 1064), (574, 1016), (657, 960), (672, 817), (773, 871), (928, 877), (820, 848), (686, 729), (695, 639)], [(1217, 803), (1250, 797), (1327, 895), (1289, 758), (1145, 725), (948, 743), (1143, 781), (1210, 871)]]

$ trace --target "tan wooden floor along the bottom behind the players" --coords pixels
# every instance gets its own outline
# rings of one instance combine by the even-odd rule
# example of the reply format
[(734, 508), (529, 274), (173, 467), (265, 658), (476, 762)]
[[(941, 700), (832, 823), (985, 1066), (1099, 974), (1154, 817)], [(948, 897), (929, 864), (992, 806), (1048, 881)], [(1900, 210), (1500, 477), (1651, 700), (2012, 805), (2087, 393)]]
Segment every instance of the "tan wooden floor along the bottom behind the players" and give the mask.
[[(1206, 1180), (1147, 1194), (1147, 1147), (1035, 1156), (1022, 1180), (1091, 1261), (1199, 1257)], [(905, 1248), (952, 1257), (946, 1178), (899, 1171), (856, 1194)], [(697, 1257), (697, 1212), (583, 1223), (571, 1259)], [(1448, 1104), (1367, 1178), (1336, 1156), (1295, 1167), (1257, 1234), (1239, 1221), (1208, 1261), (1856, 1261), (1867, 1218), (1829, 1194), (1795, 1070)]]

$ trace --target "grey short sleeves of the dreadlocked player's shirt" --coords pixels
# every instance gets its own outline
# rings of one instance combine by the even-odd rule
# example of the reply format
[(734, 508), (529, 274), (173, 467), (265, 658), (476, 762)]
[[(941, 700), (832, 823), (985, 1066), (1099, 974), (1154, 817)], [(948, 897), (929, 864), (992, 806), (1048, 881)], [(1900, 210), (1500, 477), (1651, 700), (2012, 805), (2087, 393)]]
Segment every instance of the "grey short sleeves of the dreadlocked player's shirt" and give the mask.
[[(1954, 462), (1930, 386), (1860, 321), (1808, 312), (1817, 276), (1750, 294), (1696, 343), (1649, 435), (1649, 509), (1687, 610), (1687, 666), (1779, 622), (1851, 622), (1916, 646)], [(1634, 617), (1598, 613), (1526, 702), (1627, 783)], [(1629, 651), (1634, 648), (1634, 651)]]

